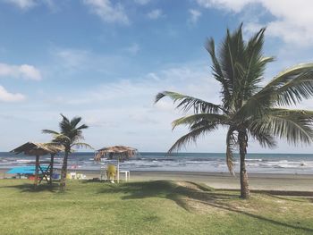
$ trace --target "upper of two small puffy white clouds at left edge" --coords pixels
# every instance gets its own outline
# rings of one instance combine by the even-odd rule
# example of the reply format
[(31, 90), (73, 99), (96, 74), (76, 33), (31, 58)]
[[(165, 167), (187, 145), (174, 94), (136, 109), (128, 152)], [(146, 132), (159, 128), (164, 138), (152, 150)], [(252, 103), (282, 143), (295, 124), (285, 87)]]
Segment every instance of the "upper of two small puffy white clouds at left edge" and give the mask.
[(11, 65), (0, 63), (0, 77), (14, 77), (26, 80), (41, 80), (41, 73), (32, 65)]

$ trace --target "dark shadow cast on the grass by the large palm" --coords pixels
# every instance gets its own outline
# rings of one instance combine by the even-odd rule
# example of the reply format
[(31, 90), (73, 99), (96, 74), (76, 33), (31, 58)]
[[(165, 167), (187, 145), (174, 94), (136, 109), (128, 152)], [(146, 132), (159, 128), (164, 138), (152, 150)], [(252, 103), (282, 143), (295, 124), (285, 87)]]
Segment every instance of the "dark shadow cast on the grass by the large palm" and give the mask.
[(120, 185), (107, 185), (106, 189), (99, 190), (98, 193), (123, 193), (122, 199), (139, 199), (146, 197), (162, 197), (173, 200), (178, 206), (190, 211), (187, 200), (213, 206), (218, 209), (230, 211), (236, 214), (244, 214), (251, 218), (264, 222), (270, 222), (275, 225), (289, 227), (295, 230), (308, 231), (313, 234), (313, 229), (302, 227), (300, 225), (292, 225), (286, 222), (280, 222), (265, 216), (252, 214), (242, 209), (231, 206), (227, 201), (239, 198), (238, 192), (224, 193), (209, 189), (202, 185), (186, 182), (193, 185), (192, 188), (176, 184), (169, 180), (145, 181), (145, 182), (129, 182)]

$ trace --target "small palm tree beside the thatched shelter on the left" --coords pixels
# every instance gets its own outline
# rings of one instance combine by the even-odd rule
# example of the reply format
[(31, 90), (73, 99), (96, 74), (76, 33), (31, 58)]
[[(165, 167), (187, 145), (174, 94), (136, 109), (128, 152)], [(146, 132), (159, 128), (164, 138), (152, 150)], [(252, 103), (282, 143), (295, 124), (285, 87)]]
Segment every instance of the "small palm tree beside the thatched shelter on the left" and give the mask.
[(82, 130), (88, 128), (88, 126), (85, 124), (78, 126), (79, 122), (81, 121), (81, 117), (74, 117), (70, 121), (67, 117), (63, 116), (63, 114), (61, 114), (61, 116), (63, 117), (63, 120), (59, 123), (60, 132), (55, 130), (42, 130), (42, 132), (52, 134), (54, 136), (50, 145), (62, 146), (64, 149), (60, 182), (60, 190), (64, 191), (67, 173), (67, 160), (68, 156), (72, 153), (72, 147), (92, 147), (86, 143), (80, 142), (80, 140), (83, 139)]

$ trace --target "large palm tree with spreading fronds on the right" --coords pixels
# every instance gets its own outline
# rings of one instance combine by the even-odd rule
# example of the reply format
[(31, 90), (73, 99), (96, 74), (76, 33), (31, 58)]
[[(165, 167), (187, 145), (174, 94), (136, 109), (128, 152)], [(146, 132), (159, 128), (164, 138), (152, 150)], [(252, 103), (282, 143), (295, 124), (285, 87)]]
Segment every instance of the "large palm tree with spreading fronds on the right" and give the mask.
[[(262, 147), (275, 147), (275, 138), (285, 138), (295, 145), (312, 142), (313, 112), (286, 109), (286, 106), (313, 96), (313, 63), (295, 65), (262, 86), (266, 64), (274, 61), (273, 57), (265, 57), (262, 52), (265, 29), (244, 41), (241, 28), (242, 24), (233, 33), (227, 29), (218, 55), (214, 39), (207, 39), (213, 77), (222, 87), (220, 105), (171, 91), (157, 94), (156, 103), (163, 97), (170, 97), (174, 104), (178, 104), (177, 108), (186, 112), (186, 116), (173, 121), (173, 129), (187, 125), (189, 132), (173, 144), (169, 153), (218, 127), (228, 129), (227, 166), (234, 174), (233, 150), (239, 148), (241, 197), (249, 198), (245, 165), (249, 138), (257, 140)], [(190, 109), (193, 114), (187, 114)]]

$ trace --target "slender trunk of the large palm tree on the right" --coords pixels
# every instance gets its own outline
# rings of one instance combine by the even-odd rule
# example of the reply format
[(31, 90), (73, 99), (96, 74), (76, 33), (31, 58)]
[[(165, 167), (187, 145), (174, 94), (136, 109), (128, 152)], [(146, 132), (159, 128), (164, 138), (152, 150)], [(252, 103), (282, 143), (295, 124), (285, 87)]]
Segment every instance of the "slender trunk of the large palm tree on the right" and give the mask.
[(238, 133), (239, 140), (239, 151), (241, 155), (241, 198), (248, 199), (250, 197), (250, 189), (249, 189), (249, 180), (248, 173), (246, 170), (246, 154), (247, 154), (247, 146), (248, 139), (247, 133), (245, 130), (239, 131)]

